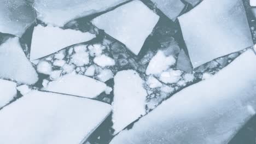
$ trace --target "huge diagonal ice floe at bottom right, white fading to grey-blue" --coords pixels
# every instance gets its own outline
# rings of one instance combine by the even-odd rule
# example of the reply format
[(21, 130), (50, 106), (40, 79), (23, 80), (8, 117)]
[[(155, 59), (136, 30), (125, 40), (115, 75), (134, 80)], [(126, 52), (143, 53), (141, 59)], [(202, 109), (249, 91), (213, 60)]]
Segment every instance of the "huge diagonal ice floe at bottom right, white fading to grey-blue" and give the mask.
[(256, 56), (251, 50), (207, 80), (174, 94), (114, 143), (224, 144), (255, 114)]

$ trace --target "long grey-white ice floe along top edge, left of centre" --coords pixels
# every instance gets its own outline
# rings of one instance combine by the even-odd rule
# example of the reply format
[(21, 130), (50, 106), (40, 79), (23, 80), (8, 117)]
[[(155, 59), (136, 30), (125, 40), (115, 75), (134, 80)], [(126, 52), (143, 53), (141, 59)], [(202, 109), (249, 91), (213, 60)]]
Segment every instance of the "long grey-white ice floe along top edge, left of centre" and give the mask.
[(67, 22), (102, 11), (129, 0), (35, 0), (37, 18), (45, 23), (62, 27)]

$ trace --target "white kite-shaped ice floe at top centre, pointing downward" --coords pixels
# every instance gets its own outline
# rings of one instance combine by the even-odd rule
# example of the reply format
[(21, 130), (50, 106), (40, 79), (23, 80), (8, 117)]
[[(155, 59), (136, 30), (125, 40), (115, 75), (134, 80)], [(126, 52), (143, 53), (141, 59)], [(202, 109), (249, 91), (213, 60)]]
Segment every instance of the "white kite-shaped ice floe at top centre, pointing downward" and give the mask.
[(92, 23), (138, 55), (158, 20), (158, 15), (135, 0), (96, 17)]

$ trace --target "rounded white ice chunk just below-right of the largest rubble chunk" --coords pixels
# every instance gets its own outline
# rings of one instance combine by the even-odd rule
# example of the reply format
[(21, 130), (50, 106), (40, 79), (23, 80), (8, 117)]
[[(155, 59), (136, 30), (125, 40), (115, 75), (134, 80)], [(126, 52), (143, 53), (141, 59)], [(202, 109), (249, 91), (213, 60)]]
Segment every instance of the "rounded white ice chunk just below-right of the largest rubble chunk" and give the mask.
[(176, 83), (181, 79), (182, 71), (170, 69), (161, 73), (159, 79), (164, 83)]

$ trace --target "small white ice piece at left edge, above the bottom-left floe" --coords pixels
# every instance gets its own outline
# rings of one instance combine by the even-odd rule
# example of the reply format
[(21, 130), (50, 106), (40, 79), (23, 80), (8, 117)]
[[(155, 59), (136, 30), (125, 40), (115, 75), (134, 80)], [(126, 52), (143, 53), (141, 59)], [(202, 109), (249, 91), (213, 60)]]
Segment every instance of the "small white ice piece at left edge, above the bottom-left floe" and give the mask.
[(17, 94), (16, 83), (0, 79), (0, 109), (7, 105)]

